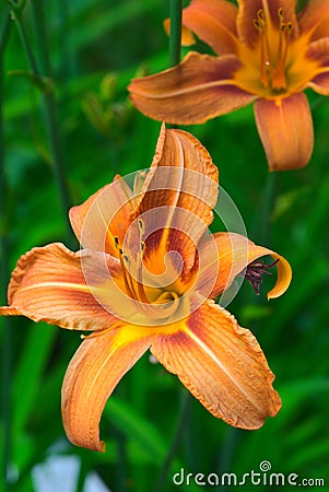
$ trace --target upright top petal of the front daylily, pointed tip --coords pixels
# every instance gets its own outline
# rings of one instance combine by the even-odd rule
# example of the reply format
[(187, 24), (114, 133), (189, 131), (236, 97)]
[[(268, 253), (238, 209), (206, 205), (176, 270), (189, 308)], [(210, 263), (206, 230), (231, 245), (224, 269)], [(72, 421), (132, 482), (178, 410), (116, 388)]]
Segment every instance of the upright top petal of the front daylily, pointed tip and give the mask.
[(167, 130), (156, 145), (134, 215), (144, 222), (144, 259), (151, 269), (165, 269), (168, 250), (177, 251), (190, 268), (196, 244), (213, 220), (218, 199), (218, 168), (190, 133)]

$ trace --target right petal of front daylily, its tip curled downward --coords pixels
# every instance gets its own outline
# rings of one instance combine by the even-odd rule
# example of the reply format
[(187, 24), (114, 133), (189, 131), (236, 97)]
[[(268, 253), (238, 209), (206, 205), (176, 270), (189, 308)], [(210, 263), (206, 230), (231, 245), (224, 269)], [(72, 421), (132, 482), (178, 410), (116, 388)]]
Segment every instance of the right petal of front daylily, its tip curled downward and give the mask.
[[(214, 241), (218, 254), (209, 257), (209, 242)], [(274, 260), (279, 259), (278, 280), (273, 289), (268, 293), (268, 298), (282, 295), (289, 288), (292, 279), (292, 270), (285, 258), (263, 246), (257, 246), (247, 237), (235, 233), (216, 233), (201, 243), (199, 248), (200, 258), (204, 258), (204, 269), (200, 271), (198, 290), (205, 295), (208, 285), (212, 291), (209, 297), (216, 297), (232, 285), (237, 274), (256, 259), (270, 255)], [(214, 279), (214, 276), (216, 278)]]

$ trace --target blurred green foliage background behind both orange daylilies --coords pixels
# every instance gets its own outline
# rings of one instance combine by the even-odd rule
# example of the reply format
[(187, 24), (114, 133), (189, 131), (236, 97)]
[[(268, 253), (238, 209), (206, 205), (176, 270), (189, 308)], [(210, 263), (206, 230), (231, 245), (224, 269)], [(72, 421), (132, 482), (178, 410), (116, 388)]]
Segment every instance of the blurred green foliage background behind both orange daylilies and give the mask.
[[(0, 223), (10, 269), (34, 246), (66, 242), (67, 219), (52, 177), (40, 84), (45, 89), (46, 83), (48, 90), (54, 85), (72, 204), (81, 203), (117, 173), (149, 167), (160, 124), (131, 107), (126, 86), (137, 73), (167, 68), (168, 42), (162, 30), (167, 3), (48, 0), (45, 30), (51, 82), (33, 77), (11, 21), (3, 57), (4, 143), (0, 149), (7, 180)], [(1, 31), (7, 16), (8, 5), (1, 2)], [(28, 1), (23, 20), (38, 60)], [(200, 49), (204, 49), (201, 44)], [(271, 462), (274, 472), (294, 472), (301, 479), (321, 477), (329, 487), (329, 101), (308, 96), (314, 107), (314, 155), (306, 168), (275, 175), (269, 221), (261, 212), (265, 189), (273, 178), (251, 107), (188, 128), (219, 166), (221, 186), (237, 204), (250, 238), (262, 236), (267, 246), (285, 256), (294, 278), (279, 300), (266, 301), (268, 279), (260, 298), (247, 284), (230, 306), (240, 325), (257, 335), (277, 375), (275, 388), (283, 400), (279, 415), (259, 431), (240, 431), (214, 419), (190, 398), (164, 491), (177, 490), (172, 477), (181, 467), (193, 473), (243, 476), (251, 469), (259, 471), (263, 460)], [(5, 426), (11, 432), (9, 482), (3, 490), (35, 490), (32, 470), (57, 454), (81, 460), (79, 491), (90, 471), (114, 492), (155, 490), (186, 405), (179, 382), (144, 356), (106, 406), (102, 420), (106, 454), (86, 452), (67, 442), (60, 415), (61, 380), (80, 343), (79, 335), (25, 318), (0, 323), (7, 371), (7, 355), (11, 359), (11, 376), (4, 372), (2, 377), (1, 457), (5, 456)], [(258, 490), (268, 488), (258, 485)]]

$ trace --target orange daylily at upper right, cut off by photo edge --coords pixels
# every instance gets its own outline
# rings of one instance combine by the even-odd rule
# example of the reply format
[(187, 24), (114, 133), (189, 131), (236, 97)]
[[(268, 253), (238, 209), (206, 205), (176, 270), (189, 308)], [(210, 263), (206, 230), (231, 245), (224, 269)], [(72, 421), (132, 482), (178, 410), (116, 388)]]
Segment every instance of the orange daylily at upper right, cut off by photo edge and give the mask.
[[(329, 0), (191, 0), (183, 42), (191, 32), (218, 55), (189, 52), (164, 72), (132, 80), (132, 103), (173, 124), (202, 124), (255, 102), (270, 169), (305, 166), (314, 134), (307, 98), (329, 94)], [(167, 24), (166, 24), (167, 25)]]

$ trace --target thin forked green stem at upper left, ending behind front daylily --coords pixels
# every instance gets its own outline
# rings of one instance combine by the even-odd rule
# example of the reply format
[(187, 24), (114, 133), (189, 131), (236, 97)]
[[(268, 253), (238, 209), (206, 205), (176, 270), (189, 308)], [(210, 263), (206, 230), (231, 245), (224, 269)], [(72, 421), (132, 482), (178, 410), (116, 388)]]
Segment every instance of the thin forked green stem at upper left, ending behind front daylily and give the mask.
[[(45, 31), (45, 20), (44, 20), (44, 7), (43, 2), (39, 0), (31, 0), (31, 8), (34, 16), (34, 27), (35, 27), (35, 38), (36, 38), (36, 49), (38, 55), (38, 61), (42, 67), (42, 71), (38, 68), (38, 62), (34, 57), (31, 49), (31, 44), (27, 36), (26, 26), (22, 16), (22, 10), (13, 9), (13, 16), (16, 21), (16, 26), (24, 46), (26, 57), (31, 69), (36, 77), (45, 77), (51, 80), (51, 66), (48, 51), (48, 43)], [(44, 107), (45, 107), (45, 119), (48, 130), (49, 145), (51, 152), (52, 171), (54, 178), (57, 185), (58, 195), (60, 198), (62, 211), (67, 221), (67, 241), (69, 246), (75, 245), (75, 238), (73, 236), (72, 230), (68, 221), (68, 211), (71, 207), (71, 198), (68, 181), (66, 178), (64, 169), (64, 159), (62, 151), (62, 142), (57, 120), (57, 106), (54, 95), (54, 89), (50, 84), (47, 84), (44, 91), (42, 91)]]

